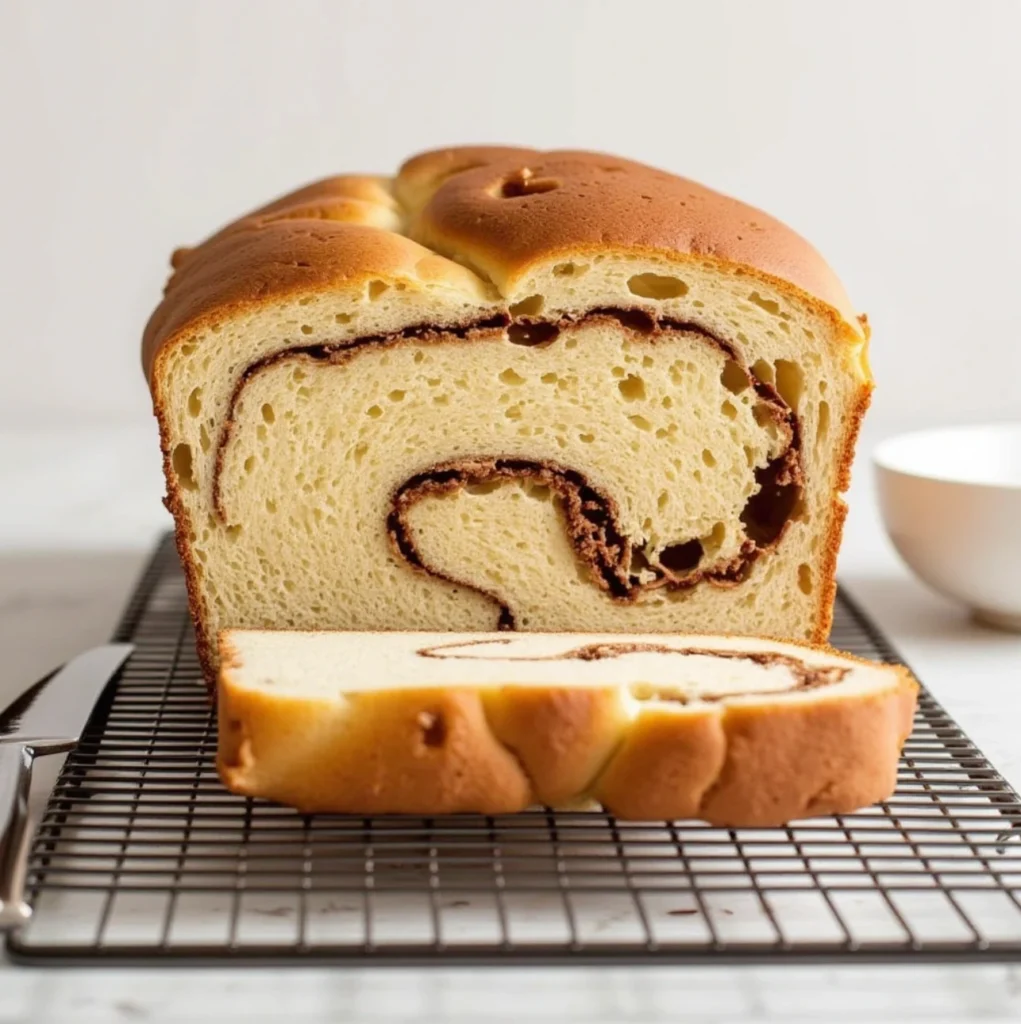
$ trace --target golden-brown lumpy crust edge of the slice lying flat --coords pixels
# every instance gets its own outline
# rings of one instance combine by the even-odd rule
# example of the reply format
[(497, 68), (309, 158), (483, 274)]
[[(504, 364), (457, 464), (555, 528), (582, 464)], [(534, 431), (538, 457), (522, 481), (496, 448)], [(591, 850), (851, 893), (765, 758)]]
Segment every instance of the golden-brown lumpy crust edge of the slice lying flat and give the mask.
[(221, 778), (307, 812), (501, 814), (594, 798), (622, 819), (730, 827), (849, 813), (893, 792), (918, 693), (892, 667), (886, 688), (861, 693), (652, 702), (633, 719), (620, 687), (320, 700), (241, 686), (227, 635), (220, 644)]

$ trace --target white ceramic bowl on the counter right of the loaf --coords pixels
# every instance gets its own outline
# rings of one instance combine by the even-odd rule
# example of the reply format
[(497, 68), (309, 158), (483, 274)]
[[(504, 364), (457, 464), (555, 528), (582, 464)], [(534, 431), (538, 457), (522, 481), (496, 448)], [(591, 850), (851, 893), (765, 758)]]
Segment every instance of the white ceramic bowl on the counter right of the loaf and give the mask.
[(1021, 631), (1021, 423), (902, 434), (874, 460), (904, 561), (976, 618)]

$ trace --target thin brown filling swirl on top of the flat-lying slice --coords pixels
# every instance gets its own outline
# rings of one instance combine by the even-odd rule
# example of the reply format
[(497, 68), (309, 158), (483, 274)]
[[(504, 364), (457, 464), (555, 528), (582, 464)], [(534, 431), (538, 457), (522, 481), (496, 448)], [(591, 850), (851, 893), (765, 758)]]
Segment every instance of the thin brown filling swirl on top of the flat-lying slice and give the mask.
[(792, 675), (792, 685), (785, 690), (762, 691), (742, 690), (728, 691), (726, 693), (703, 693), (695, 696), (686, 696), (673, 689), (657, 690), (655, 688), (642, 688), (645, 699), (670, 700), (675, 703), (688, 703), (691, 700), (701, 702), (713, 702), (724, 700), (727, 697), (753, 696), (762, 692), (797, 693), (802, 690), (814, 690), (821, 686), (833, 686), (842, 682), (850, 669), (839, 666), (812, 666), (806, 665), (801, 658), (791, 654), (780, 654), (776, 651), (743, 651), (743, 650), (711, 650), (706, 647), (670, 647), (660, 643), (636, 643), (628, 640), (612, 643), (591, 643), (582, 647), (573, 647), (570, 650), (562, 651), (559, 654), (538, 654), (526, 656), (501, 656), (500, 654), (482, 655), (478, 654), (456, 654), (453, 651), (464, 647), (480, 647), (486, 644), (506, 644), (509, 640), (467, 640), (455, 643), (436, 644), (432, 647), (422, 647), (417, 653), (420, 657), (434, 657), (440, 659), (454, 658), (458, 660), (477, 662), (597, 662), (602, 658), (623, 657), (626, 654), (681, 654), (684, 657), (704, 656), (720, 657), (736, 662), (751, 662), (753, 665), (760, 665), (764, 668), (771, 666), (782, 666)]

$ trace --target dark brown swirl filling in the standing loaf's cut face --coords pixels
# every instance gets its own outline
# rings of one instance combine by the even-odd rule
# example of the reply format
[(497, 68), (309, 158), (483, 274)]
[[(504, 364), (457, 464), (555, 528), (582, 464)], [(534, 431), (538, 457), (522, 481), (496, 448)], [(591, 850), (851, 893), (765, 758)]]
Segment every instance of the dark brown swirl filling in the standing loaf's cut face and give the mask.
[[(395, 334), (375, 335), (347, 343), (288, 348), (267, 355), (245, 370), (230, 398), (213, 472), (213, 505), (217, 515), (221, 521), (227, 521), (220, 477), (226, 446), (235, 430), (236, 408), (245, 385), (266, 367), (292, 358), (339, 364), (353, 358), (369, 347), (438, 341), (451, 336), (471, 341), (505, 330), (516, 332), (511, 340), (518, 344), (545, 345), (552, 343), (562, 328), (594, 319), (613, 319), (626, 329), (641, 334), (653, 344), (662, 335), (677, 332), (696, 335), (714, 345), (733, 362), (736, 373), (745, 374), (760, 399), (762, 415), (770, 418), (788, 438), (783, 452), (755, 471), (759, 486), (749, 498), (740, 514), (746, 540), (739, 551), (730, 558), (704, 565), (705, 550), (701, 542), (693, 539), (668, 546), (660, 553), (657, 561), (650, 562), (643, 551), (644, 542), (633, 544), (625, 536), (613, 499), (591, 483), (583, 473), (552, 461), (507, 459), (499, 455), (480, 455), (438, 463), (406, 480), (393, 495), (386, 520), (387, 531), (395, 550), (410, 565), (422, 571), (459, 586), (471, 586), (425, 563), (408, 527), (409, 510), (424, 498), (450, 494), (464, 486), (509, 479), (531, 479), (548, 486), (556, 495), (578, 558), (589, 566), (594, 582), (615, 600), (634, 601), (643, 592), (660, 587), (687, 590), (703, 582), (717, 587), (736, 586), (747, 579), (756, 560), (779, 543), (801, 495), (803, 476), (798, 419), (772, 385), (759, 380), (743, 366), (736, 349), (729, 342), (696, 324), (666, 317), (655, 318), (645, 309), (599, 308), (582, 316), (565, 316), (558, 322), (517, 317), (511, 323), (505, 315), (496, 315), (474, 324), (448, 327), (419, 325)], [(649, 573), (652, 579), (647, 579)], [(642, 575), (646, 578), (644, 582)], [(511, 609), (496, 595), (488, 593), (487, 596), (500, 607), (500, 628), (514, 629)]]

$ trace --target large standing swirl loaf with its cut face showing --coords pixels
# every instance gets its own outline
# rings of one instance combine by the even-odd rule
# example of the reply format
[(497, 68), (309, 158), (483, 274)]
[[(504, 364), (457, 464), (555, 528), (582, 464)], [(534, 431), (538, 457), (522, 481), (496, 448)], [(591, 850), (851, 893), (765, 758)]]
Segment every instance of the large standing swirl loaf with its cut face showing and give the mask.
[(143, 361), (209, 679), (232, 627), (824, 640), (867, 329), (766, 214), (456, 148), (173, 263)]

